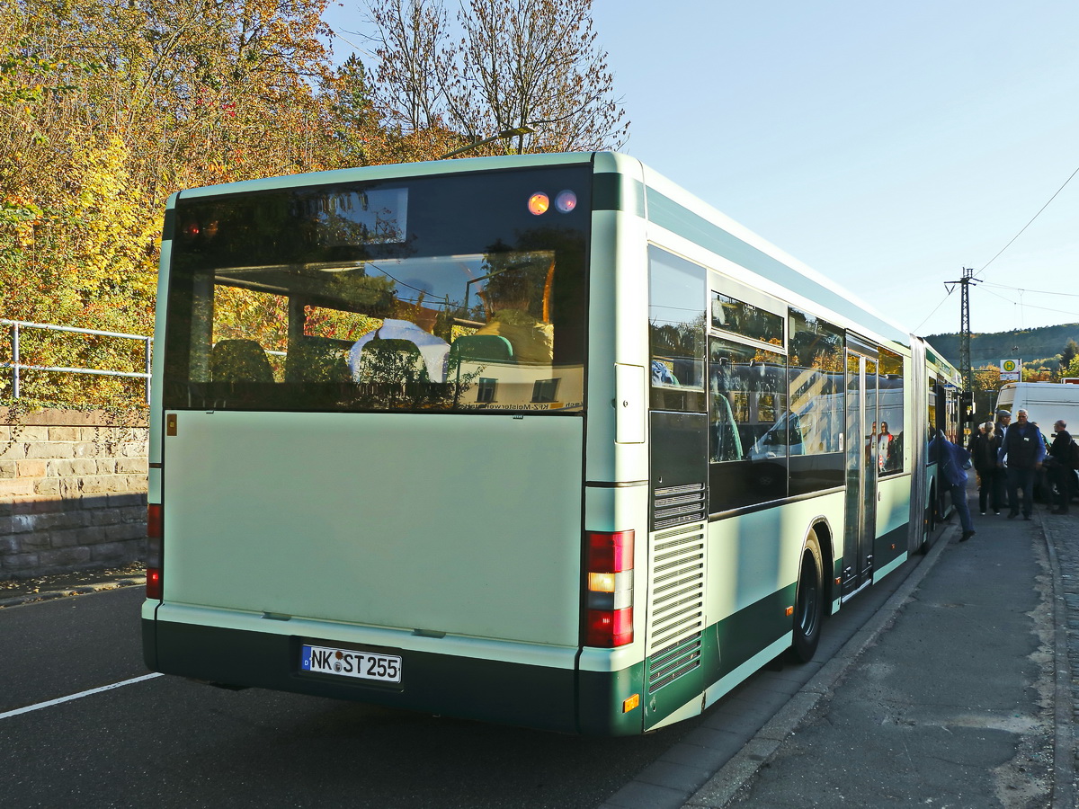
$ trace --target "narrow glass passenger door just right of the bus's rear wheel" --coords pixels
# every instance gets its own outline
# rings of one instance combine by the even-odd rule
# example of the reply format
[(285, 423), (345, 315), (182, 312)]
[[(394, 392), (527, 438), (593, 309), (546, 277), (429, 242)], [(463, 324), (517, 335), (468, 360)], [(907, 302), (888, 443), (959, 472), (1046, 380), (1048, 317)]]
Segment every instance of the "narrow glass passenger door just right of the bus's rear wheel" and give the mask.
[(873, 538), (876, 533), (877, 479), (877, 358), (876, 352), (847, 348), (844, 404), (846, 424), (846, 519), (843, 543), (843, 595), (873, 578)]

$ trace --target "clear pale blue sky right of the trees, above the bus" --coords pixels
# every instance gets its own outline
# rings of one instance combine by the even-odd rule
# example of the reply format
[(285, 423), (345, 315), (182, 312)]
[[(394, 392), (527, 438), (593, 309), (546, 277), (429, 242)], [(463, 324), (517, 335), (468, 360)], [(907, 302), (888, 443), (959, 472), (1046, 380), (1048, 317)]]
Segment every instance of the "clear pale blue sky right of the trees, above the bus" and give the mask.
[[(363, 30), (344, 3), (327, 20)], [(1079, 175), (994, 258), (1079, 168), (1077, 0), (596, 0), (593, 19), (623, 151), (890, 319), (958, 331), (944, 282), (966, 266), (975, 332), (1079, 323)]]

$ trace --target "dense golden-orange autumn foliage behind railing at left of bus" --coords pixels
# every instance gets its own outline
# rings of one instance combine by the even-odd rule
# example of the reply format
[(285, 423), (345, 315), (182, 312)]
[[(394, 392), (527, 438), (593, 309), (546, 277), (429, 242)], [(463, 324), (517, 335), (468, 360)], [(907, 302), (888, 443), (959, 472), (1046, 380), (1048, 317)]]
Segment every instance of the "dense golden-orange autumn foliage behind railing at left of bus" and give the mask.
[[(341, 165), (326, 1), (0, 6), (0, 316), (150, 333), (169, 193)], [(123, 353), (60, 342), (27, 339), (24, 361)], [(107, 395), (93, 378), (74, 387)]]

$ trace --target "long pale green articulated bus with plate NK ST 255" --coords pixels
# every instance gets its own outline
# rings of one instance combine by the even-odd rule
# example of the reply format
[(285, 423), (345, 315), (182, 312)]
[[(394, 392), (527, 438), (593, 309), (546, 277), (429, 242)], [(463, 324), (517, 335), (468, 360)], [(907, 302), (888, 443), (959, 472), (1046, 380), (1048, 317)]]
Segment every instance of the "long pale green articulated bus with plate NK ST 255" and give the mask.
[(954, 369), (622, 154), (182, 191), (158, 302), (154, 671), (642, 733), (937, 512)]

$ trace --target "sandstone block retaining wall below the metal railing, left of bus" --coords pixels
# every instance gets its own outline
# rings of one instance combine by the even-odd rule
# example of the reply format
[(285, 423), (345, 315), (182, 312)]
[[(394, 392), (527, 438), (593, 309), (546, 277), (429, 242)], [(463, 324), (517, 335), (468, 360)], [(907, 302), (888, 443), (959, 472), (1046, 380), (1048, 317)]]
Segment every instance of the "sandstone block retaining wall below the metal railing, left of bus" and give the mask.
[(0, 579), (145, 559), (146, 490), (145, 425), (0, 408)]

